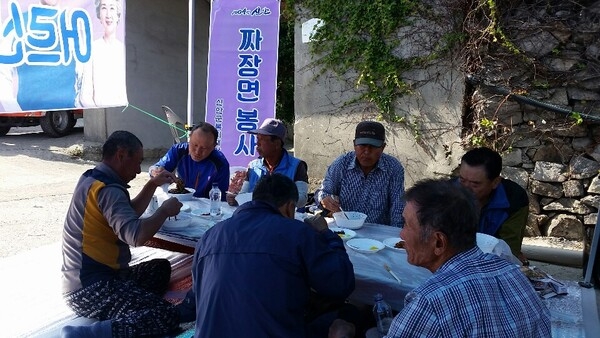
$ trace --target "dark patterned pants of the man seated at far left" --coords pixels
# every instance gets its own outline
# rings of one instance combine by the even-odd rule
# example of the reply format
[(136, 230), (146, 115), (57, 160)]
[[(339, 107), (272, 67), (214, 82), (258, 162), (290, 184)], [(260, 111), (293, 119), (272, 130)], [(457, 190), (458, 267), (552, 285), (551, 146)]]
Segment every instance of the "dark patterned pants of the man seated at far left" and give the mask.
[(113, 337), (164, 335), (179, 327), (174, 306), (163, 299), (171, 277), (166, 259), (124, 270), (118, 279), (99, 281), (65, 296), (79, 316), (112, 320)]

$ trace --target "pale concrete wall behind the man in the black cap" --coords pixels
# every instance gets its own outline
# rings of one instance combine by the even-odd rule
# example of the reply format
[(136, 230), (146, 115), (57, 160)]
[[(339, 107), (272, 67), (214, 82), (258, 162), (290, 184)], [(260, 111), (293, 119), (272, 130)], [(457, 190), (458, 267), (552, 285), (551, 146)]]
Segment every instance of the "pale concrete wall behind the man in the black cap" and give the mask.
[[(309, 52), (310, 43), (302, 42), (301, 18), (295, 34), (295, 113), (294, 150), (308, 163), (311, 190), (314, 190), (329, 164), (340, 154), (353, 150), (352, 140), (358, 122), (377, 119), (375, 107), (364, 103), (347, 105), (360, 93), (354, 79), (345, 81), (315, 67)], [(432, 23), (419, 22), (432, 26)], [(443, 34), (443, 29), (435, 29)], [(413, 32), (399, 32), (399, 57), (422, 53), (423, 36), (413, 44)], [(430, 38), (429, 41), (435, 41)], [(438, 60), (425, 69), (403, 74), (413, 86), (413, 94), (396, 102), (396, 111), (406, 115), (408, 123), (387, 123), (385, 152), (396, 156), (404, 165), (406, 186), (422, 178), (447, 175), (453, 170), (456, 156), (462, 154), (460, 133), (464, 77), (451, 60)]]

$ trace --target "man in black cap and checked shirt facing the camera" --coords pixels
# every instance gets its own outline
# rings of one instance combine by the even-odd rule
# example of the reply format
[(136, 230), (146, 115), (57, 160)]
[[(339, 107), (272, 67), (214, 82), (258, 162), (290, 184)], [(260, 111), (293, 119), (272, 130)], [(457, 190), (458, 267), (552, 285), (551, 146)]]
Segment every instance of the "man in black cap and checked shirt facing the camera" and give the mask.
[(367, 214), (366, 222), (402, 227), (404, 168), (383, 153), (385, 128), (379, 122), (356, 126), (354, 151), (338, 157), (327, 169), (318, 193), (321, 205), (332, 212)]

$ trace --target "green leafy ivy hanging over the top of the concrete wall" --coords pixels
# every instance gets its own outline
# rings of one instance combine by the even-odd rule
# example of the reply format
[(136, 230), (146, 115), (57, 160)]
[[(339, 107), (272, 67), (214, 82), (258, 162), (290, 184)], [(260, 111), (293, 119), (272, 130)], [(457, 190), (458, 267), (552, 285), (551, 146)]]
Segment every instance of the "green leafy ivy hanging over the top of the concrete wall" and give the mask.
[[(323, 70), (355, 75), (355, 84), (365, 89), (358, 100), (373, 103), (382, 118), (401, 122), (393, 103), (411, 92), (401, 74), (418, 60), (393, 55), (400, 27), (410, 24), (421, 1), (414, 0), (288, 0), (284, 13), (300, 5), (324, 22), (312, 36), (311, 53), (319, 56)], [(293, 16), (291, 14), (290, 16)]]

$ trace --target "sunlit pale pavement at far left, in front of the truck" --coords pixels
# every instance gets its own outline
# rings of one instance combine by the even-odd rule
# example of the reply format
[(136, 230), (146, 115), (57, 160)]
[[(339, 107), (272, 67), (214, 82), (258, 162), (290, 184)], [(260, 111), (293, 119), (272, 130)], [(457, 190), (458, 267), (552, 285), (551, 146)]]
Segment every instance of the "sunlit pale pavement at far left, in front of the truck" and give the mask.
[[(0, 258), (60, 241), (75, 184), (96, 164), (78, 157), (83, 127), (62, 138), (50, 138), (39, 127), (12, 128), (0, 144)], [(146, 178), (142, 173), (131, 182), (132, 193)]]

